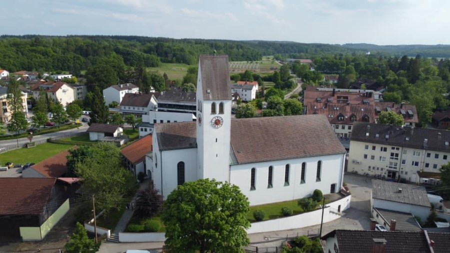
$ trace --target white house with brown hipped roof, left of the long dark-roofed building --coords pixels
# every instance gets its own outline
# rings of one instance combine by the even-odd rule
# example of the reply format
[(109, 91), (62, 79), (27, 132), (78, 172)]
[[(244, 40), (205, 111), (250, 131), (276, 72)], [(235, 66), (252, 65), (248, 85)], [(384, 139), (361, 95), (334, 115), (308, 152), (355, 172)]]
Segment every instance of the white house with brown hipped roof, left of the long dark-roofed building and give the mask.
[(134, 114), (140, 117), (150, 110), (156, 110), (158, 105), (159, 93), (126, 93), (120, 102), (119, 112), (122, 115)]

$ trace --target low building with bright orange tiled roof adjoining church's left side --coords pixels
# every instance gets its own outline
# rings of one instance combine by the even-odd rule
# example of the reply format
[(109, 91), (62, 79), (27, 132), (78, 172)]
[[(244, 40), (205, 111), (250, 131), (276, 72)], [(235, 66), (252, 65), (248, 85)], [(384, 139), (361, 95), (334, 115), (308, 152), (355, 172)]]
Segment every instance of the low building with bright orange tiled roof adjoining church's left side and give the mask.
[(151, 172), (150, 170), (147, 171), (145, 164), (145, 155), (151, 152), (151, 144), (152, 140), (150, 134), (120, 150), (125, 157), (126, 167), (134, 176), (137, 176), (139, 172), (142, 172), (151, 179)]

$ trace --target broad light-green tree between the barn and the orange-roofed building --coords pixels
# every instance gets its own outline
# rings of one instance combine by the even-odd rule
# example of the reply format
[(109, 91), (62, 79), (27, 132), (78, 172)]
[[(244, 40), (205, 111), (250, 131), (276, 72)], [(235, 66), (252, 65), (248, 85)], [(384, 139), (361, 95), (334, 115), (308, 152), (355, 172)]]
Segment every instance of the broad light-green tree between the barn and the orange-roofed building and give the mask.
[(136, 178), (122, 165), (120, 149), (110, 142), (99, 142), (91, 154), (75, 164), (75, 174), (82, 178), (81, 188), (95, 194), (95, 203), (106, 213), (120, 209), (122, 195), (136, 186)]

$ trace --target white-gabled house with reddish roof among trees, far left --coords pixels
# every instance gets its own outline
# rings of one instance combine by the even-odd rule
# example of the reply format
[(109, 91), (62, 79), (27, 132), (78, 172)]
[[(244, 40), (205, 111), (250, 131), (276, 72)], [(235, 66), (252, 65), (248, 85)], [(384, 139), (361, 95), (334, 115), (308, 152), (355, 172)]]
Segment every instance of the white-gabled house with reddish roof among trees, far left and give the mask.
[(39, 95), (44, 92), (49, 99), (61, 103), (64, 107), (75, 100), (73, 87), (62, 81), (38, 83), (31, 90), (35, 100), (39, 99)]

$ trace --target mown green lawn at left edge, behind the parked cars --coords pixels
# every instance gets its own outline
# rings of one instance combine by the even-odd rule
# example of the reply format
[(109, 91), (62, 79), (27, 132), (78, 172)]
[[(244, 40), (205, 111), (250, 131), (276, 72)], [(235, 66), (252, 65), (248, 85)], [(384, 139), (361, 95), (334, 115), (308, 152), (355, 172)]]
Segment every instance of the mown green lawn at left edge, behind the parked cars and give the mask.
[(72, 146), (73, 145), (43, 143), (31, 148), (18, 148), (0, 154), (0, 163), (1, 165), (8, 161), (13, 162), (14, 164), (24, 164), (27, 162), (37, 163), (50, 156), (67, 150)]

